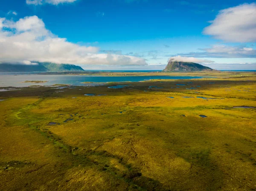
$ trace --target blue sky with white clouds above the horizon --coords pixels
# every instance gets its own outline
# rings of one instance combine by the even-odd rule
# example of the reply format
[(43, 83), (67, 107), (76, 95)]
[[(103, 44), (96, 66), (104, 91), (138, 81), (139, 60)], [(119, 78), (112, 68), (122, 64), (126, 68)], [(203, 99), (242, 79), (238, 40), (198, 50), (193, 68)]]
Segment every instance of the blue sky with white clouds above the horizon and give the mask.
[[(162, 69), (170, 57), (181, 60), (193, 57), (194, 61), (206, 64), (256, 63), (255, 15), (256, 5), (250, 0), (5, 0), (0, 3), (0, 18), (2, 33), (9, 32), (8, 36), (3, 33), (2, 38), (8, 39), (9, 44), (1, 45), (0, 41), (0, 48), (8, 49), (6, 46), (17, 36), (26, 33), (35, 34), (35, 39), (26, 42), (23, 37), (24, 44), (32, 46), (39, 39), (44, 41), (40, 41), (44, 47), (52, 47), (58, 39), (65, 44), (57, 47), (70, 47), (55, 53), (44, 48), (49, 60), (42, 58), (48, 57), (46, 52), (39, 55), (40, 48), (33, 52), (37, 47), (33, 51), (28, 48), (21, 51), (21, 46), (9, 47), (17, 48), (27, 57), (20, 54), (7, 57), (8, 52), (0, 56), (5, 57), (2, 62), (63, 63), (65, 59), (57, 57), (67, 55), (65, 51), (70, 52), (73, 47), (78, 49), (69, 53), (72, 59), (67, 58), (67, 63), (92, 69)], [(236, 22), (239, 18), (243, 20)], [(225, 26), (227, 20), (231, 20), (229, 28)], [(18, 28), (29, 22), (38, 27)], [(51, 46), (46, 44), (49, 38)], [(255, 69), (255, 65), (251, 66)]]

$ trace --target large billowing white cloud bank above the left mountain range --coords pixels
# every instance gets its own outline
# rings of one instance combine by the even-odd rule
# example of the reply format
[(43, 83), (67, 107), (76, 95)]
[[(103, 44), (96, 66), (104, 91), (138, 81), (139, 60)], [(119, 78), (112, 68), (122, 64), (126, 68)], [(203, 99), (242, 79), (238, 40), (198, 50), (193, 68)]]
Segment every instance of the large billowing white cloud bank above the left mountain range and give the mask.
[(59, 38), (45, 28), (37, 16), (17, 22), (0, 18), (0, 62), (33, 64), (35, 62), (91, 64), (91, 65), (146, 65), (138, 57), (98, 54), (99, 48), (81, 46)]

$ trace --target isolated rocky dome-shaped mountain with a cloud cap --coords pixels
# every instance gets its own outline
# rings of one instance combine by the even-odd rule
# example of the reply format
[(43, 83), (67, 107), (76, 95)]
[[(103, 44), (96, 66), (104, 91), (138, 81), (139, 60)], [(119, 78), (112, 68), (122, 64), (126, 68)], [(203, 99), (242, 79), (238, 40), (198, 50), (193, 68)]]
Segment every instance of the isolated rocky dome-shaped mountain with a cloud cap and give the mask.
[(163, 71), (213, 71), (213, 69), (197, 63), (169, 60)]

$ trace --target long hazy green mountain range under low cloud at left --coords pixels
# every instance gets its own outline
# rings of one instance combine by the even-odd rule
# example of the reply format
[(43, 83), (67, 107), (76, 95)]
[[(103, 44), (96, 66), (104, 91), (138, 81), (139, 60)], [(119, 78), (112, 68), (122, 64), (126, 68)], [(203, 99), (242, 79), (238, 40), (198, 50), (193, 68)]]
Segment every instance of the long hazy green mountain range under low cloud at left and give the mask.
[(0, 72), (32, 72), (32, 71), (84, 71), (73, 64), (38, 63), (38, 65), (21, 65), (0, 63)]

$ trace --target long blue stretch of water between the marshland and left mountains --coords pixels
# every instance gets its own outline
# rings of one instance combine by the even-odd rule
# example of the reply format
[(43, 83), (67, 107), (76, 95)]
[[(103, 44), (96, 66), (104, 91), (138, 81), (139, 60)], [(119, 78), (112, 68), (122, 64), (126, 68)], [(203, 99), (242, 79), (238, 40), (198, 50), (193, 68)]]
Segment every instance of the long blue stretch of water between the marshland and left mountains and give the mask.
[[(201, 76), (121, 76), (121, 77), (103, 77), (90, 75), (38, 75), (38, 74), (4, 74), (0, 75), (0, 87), (26, 87), (35, 85), (35, 83), (21, 83), (26, 80), (48, 81), (36, 85), (51, 86), (54, 84), (69, 84), (73, 86), (84, 86), (83, 82), (107, 83), (107, 82), (139, 82), (144, 80), (179, 80), (179, 79), (198, 79)], [(93, 85), (93, 84), (91, 84)], [(94, 84), (95, 85), (95, 84)]]

